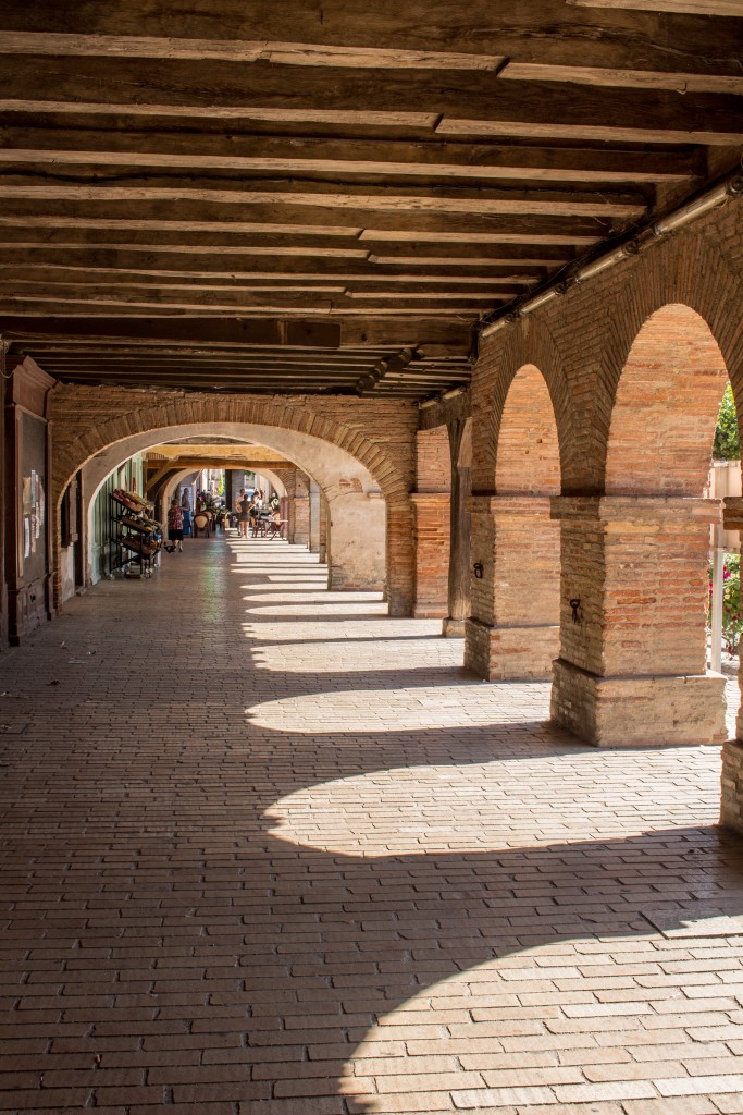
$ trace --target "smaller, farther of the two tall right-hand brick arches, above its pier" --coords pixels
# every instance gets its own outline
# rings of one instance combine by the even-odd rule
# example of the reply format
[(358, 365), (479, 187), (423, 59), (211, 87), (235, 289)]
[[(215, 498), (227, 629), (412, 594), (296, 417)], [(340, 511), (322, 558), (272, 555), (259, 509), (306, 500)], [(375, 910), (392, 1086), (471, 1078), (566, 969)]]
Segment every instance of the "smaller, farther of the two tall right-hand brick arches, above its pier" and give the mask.
[[(490, 389), (478, 398), (482, 420), (476, 432), (475, 456), (483, 463), (485, 471), (478, 469), (475, 486), (500, 488), (497, 479), (500, 473), (506, 489), (521, 491), (519, 485), (512, 488), (511, 483), (519, 453), (525, 450), (529, 450), (535, 465), (534, 481), (541, 473), (545, 491), (553, 492), (555, 471), (558, 482), (561, 476), (563, 483), (569, 485), (575, 473), (578, 411), (567, 384), (565, 358), (547, 326), (527, 320), (520, 329), (509, 330), (502, 340), (483, 349), (479, 369), (490, 381)], [(539, 411), (531, 425), (529, 390), (534, 391), (534, 405)], [(537, 440), (540, 436), (541, 443)], [(536, 452), (539, 445), (544, 449)], [(544, 462), (537, 467), (540, 453)], [(559, 486), (555, 489), (558, 493)]]

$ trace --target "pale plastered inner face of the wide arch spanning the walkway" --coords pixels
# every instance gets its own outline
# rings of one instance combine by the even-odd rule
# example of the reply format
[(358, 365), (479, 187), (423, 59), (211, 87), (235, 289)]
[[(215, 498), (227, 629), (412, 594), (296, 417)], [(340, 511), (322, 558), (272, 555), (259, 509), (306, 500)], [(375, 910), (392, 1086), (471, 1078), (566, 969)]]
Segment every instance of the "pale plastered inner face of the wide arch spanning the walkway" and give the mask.
[(135, 454), (164, 442), (227, 436), (276, 449), (311, 476), (329, 507), (329, 588), (382, 591), (387, 585), (387, 503), (370, 469), (348, 450), (299, 430), (248, 423), (183, 424), (115, 442), (85, 464), (90, 501), (110, 473)]

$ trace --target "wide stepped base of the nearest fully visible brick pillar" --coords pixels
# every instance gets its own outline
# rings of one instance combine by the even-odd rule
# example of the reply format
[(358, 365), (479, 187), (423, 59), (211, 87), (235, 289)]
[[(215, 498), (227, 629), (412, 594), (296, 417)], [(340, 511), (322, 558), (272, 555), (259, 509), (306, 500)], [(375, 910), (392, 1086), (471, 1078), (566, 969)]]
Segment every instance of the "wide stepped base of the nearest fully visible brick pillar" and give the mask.
[(603, 678), (558, 658), (551, 719), (594, 747), (722, 744), (722, 673)]

